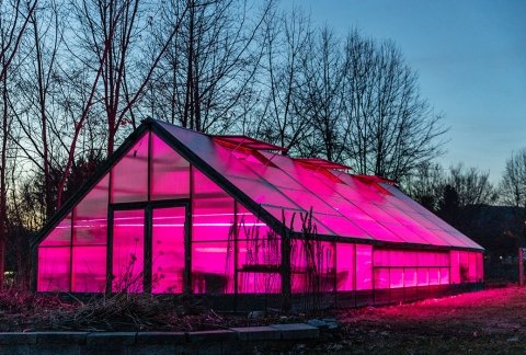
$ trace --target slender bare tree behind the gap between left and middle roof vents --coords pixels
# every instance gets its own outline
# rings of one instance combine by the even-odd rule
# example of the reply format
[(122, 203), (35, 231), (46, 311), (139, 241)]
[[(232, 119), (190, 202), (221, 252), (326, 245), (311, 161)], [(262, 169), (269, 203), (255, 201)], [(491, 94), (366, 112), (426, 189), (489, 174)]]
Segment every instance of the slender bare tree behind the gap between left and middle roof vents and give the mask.
[(261, 104), (252, 115), (256, 124), (243, 133), (249, 130), (249, 135), (297, 152), (312, 128), (310, 117), (302, 115), (298, 102), (306, 89), (305, 64), (312, 55), (310, 21), (294, 9), (290, 13), (268, 16), (264, 28), (264, 57), (258, 78)]

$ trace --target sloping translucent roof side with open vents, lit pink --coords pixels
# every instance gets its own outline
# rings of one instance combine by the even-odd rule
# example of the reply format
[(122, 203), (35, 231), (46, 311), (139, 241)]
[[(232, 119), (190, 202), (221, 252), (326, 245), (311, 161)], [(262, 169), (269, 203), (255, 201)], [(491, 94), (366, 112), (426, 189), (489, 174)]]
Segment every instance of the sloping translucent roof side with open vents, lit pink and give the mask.
[[(352, 175), (319, 159), (293, 159), (276, 151), (158, 122), (179, 142), (226, 178), (239, 191), (286, 224), (310, 209), (320, 234), (397, 243), (482, 249), (451, 226), (377, 176)], [(219, 142), (218, 140), (221, 140)], [(340, 169), (341, 168), (341, 169)]]

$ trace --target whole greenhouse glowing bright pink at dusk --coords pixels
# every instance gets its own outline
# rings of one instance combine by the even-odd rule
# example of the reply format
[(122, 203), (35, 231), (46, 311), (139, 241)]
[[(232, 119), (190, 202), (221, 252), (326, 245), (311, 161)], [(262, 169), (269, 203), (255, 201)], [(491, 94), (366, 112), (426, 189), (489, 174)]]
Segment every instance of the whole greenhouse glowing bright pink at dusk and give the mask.
[(359, 306), (479, 287), (482, 253), (391, 181), (146, 119), (39, 232), (33, 285)]

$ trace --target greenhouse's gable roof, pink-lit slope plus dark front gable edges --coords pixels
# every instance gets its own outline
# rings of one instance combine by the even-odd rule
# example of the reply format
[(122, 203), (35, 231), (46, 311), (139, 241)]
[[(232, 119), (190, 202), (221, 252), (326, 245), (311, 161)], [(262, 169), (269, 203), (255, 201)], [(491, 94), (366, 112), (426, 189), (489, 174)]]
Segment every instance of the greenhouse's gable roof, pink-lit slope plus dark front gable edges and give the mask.
[[(155, 119), (146, 119), (125, 140), (87, 187), (68, 201), (38, 233), (36, 242), (148, 129), (277, 231), (300, 232), (298, 214), (312, 209), (312, 222), (321, 239), (395, 248), (483, 250), (389, 181), (352, 175), (343, 171), (347, 167), (324, 160), (311, 159), (306, 163), (278, 154), (277, 146), (252, 138), (242, 137), (241, 142), (250, 144), (239, 150), (230, 141), (232, 136), (221, 139)], [(250, 147), (254, 142), (258, 144)]]

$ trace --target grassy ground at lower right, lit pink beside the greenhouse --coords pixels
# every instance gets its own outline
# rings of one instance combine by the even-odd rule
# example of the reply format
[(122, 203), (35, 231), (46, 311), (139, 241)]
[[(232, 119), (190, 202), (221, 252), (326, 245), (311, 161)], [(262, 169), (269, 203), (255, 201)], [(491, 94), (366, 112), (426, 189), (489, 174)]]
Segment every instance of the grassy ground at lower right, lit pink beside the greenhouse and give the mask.
[[(335, 314), (356, 354), (526, 354), (526, 288), (515, 286)], [(320, 345), (321, 346), (321, 345)], [(319, 347), (319, 350), (322, 350)]]

